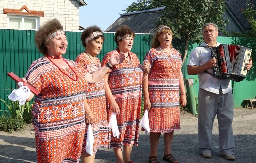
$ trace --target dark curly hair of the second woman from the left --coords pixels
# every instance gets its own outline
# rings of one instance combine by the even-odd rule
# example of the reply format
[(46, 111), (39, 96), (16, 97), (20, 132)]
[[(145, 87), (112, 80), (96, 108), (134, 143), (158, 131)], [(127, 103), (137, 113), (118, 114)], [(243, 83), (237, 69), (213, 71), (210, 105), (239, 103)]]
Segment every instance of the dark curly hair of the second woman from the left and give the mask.
[[(85, 47), (86, 46), (86, 43), (85, 43), (85, 38), (90, 36), (93, 32), (96, 32), (96, 31), (99, 31), (101, 33), (103, 33), (103, 31), (100, 29), (100, 27), (98, 27), (97, 25), (92, 25), (90, 27), (87, 27), (81, 34), (81, 41), (82, 41), (82, 45)], [(92, 40), (95, 40), (95, 39), (99, 39), (99, 38), (102, 38), (102, 40), (104, 41), (105, 40), (105, 37), (103, 35), (99, 35), (99, 36), (96, 36), (94, 37)]]

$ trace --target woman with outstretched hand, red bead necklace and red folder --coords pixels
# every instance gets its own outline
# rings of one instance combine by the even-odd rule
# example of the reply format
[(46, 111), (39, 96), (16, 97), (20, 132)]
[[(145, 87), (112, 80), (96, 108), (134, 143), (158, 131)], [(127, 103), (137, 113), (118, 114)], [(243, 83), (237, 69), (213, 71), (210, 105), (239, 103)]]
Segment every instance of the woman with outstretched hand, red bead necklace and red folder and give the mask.
[[(63, 27), (57, 19), (47, 21), (35, 35), (43, 56), (34, 61), (22, 81), (40, 91), (35, 96), (32, 120), (39, 163), (78, 163), (85, 125), (94, 123), (85, 94), (88, 82), (96, 82), (109, 67), (88, 73), (76, 62), (62, 57), (68, 46)], [(116, 65), (124, 56), (112, 55), (108, 64)], [(27, 101), (33, 98), (34, 94)]]

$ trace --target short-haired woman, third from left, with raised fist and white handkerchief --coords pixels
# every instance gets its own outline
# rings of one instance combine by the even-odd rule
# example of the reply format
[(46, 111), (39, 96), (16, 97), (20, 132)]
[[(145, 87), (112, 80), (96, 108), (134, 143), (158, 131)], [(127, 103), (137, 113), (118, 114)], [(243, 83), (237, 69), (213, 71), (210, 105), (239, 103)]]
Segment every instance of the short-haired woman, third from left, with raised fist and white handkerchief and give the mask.
[[(126, 25), (118, 27), (115, 34), (117, 48), (107, 53), (103, 60), (102, 66), (105, 65), (112, 53), (124, 54), (123, 63), (111, 67), (106, 75), (106, 81), (109, 84), (110, 91), (105, 88), (107, 98), (108, 119), (112, 113), (111, 101), (116, 101), (120, 114), (116, 115), (119, 138), (111, 135), (110, 147), (114, 148), (117, 163), (133, 163), (131, 160), (132, 146), (138, 145), (139, 138), (139, 120), (141, 109), (141, 90), (142, 80), (149, 71), (149, 62), (144, 61), (143, 68), (135, 53), (131, 52), (133, 45), (134, 32)], [(146, 69), (143, 73), (143, 69)], [(124, 159), (123, 159), (124, 145)]]

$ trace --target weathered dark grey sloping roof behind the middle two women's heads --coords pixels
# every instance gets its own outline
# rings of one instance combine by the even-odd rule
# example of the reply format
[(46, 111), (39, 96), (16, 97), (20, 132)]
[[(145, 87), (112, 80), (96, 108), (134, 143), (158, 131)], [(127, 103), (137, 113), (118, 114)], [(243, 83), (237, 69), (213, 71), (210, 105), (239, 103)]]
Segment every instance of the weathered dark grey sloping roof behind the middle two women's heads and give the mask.
[(160, 17), (160, 11), (164, 7), (128, 12), (121, 14), (121, 16), (110, 25), (105, 32), (116, 32), (120, 25), (128, 25), (135, 33), (154, 33), (156, 30), (156, 23)]

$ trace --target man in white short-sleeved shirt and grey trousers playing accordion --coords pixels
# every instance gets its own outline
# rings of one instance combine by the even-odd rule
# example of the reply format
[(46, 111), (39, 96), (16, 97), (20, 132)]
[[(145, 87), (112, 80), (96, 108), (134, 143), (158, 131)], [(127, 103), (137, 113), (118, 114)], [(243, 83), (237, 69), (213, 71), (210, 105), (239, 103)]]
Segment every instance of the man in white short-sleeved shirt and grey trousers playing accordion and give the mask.
[[(211, 57), (210, 47), (219, 46), (216, 41), (218, 27), (214, 23), (205, 23), (202, 27), (204, 43), (196, 47), (190, 54), (187, 66), (188, 75), (198, 74), (199, 78), (199, 111), (198, 136), (199, 153), (203, 157), (212, 157), (212, 126), (217, 115), (219, 123), (219, 151), (220, 155), (234, 160), (234, 137), (232, 121), (234, 115), (234, 102), (231, 81), (219, 79), (212, 75), (217, 60)], [(252, 58), (246, 63), (249, 70), (252, 67)], [(205, 73), (207, 72), (210, 73)]]

